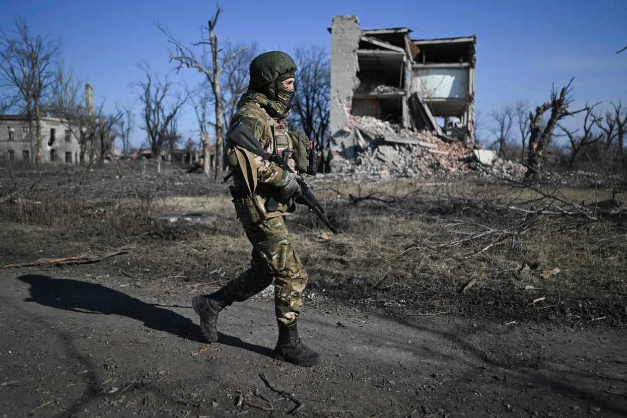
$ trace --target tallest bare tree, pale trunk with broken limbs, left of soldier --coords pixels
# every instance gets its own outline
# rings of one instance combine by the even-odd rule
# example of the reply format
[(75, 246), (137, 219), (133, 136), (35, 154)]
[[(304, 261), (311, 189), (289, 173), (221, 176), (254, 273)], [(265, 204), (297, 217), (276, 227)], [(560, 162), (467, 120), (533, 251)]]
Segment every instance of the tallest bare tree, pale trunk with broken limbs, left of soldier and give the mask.
[[(218, 35), (215, 33), (216, 24), (218, 24), (218, 18), (222, 9), (219, 4), (217, 6), (216, 14), (213, 18), (209, 19), (206, 28), (203, 29), (201, 33), (201, 40), (192, 43), (193, 47), (201, 47), (201, 55), (196, 56), (194, 51), (191, 48), (184, 46), (180, 41), (177, 41), (174, 36), (167, 30), (166, 28), (161, 28), (161, 31), (167, 35), (169, 38), (169, 43), (172, 44), (173, 48), (170, 52), (170, 61), (178, 61), (177, 71), (181, 70), (181, 68), (196, 68), (196, 70), (203, 73), (209, 84), (211, 85), (211, 90), (213, 90), (214, 96), (214, 113), (215, 113), (215, 127), (216, 127), (216, 155), (215, 160), (223, 161), (224, 160), (224, 152), (223, 152), (223, 138), (224, 138), (224, 108), (223, 108), (223, 99), (222, 99), (222, 91), (220, 85), (220, 75), (228, 62), (233, 60), (235, 56), (240, 54), (242, 51), (246, 49), (246, 47), (241, 48), (238, 51), (234, 51), (231, 55), (223, 57), (220, 59), (219, 57), (219, 48), (218, 48)], [(207, 35), (205, 35), (205, 32)], [(209, 45), (209, 51), (206, 50), (206, 46)], [(205, 160), (204, 164), (208, 164), (208, 161)], [(222, 164), (215, 164), (215, 179), (218, 179), (218, 176), (222, 172)]]

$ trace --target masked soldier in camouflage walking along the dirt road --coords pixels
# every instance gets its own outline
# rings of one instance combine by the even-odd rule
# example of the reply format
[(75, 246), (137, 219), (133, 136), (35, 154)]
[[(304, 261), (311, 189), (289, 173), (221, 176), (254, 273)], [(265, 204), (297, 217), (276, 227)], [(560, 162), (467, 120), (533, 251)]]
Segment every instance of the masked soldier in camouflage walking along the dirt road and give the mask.
[[(231, 120), (231, 126), (240, 120), (268, 152), (288, 158), (294, 172), (298, 170), (290, 157), (293, 140), (285, 118), (292, 109), (289, 102), (296, 70), (286, 53), (271, 51), (257, 56), (250, 64), (248, 90)], [(253, 250), (250, 268), (215, 293), (192, 299), (204, 336), (210, 343), (216, 342), (218, 313), (274, 283), (278, 323), (275, 358), (299, 366), (318, 364), (322, 356), (298, 337), (297, 318), (307, 272), (285, 226), (285, 216), (295, 210), (293, 199), (301, 193), (297, 174), (233, 144), (229, 144), (228, 160), (233, 169), (233, 185), (229, 187), (233, 204)]]

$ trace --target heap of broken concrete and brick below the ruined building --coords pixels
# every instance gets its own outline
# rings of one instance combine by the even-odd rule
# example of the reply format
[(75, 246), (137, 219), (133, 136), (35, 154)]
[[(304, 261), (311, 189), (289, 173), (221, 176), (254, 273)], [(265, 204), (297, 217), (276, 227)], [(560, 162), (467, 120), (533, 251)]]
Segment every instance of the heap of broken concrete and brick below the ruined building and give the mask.
[(524, 174), (522, 164), (496, 159), (493, 151), (477, 150), (458, 140), (445, 141), (431, 132), (354, 115), (349, 116), (349, 124), (357, 157), (351, 161), (334, 157), (335, 170), (344, 174), (378, 179), (490, 173), (521, 179)]

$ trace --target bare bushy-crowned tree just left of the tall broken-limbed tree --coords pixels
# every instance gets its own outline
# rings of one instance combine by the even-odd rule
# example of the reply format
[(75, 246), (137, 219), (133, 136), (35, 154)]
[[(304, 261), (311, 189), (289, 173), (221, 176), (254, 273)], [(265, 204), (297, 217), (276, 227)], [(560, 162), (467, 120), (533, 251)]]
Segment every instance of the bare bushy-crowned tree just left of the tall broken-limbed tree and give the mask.
[[(172, 92), (172, 81), (168, 77), (163, 81), (159, 76), (152, 75), (147, 64), (140, 68), (144, 70), (145, 80), (136, 81), (135, 88), (139, 88), (139, 99), (142, 103), (142, 129), (147, 135), (147, 146), (152, 158), (161, 155), (162, 149), (171, 140), (172, 120), (179, 117), (179, 112), (187, 100), (181, 91)], [(175, 123), (176, 126), (176, 123)]]

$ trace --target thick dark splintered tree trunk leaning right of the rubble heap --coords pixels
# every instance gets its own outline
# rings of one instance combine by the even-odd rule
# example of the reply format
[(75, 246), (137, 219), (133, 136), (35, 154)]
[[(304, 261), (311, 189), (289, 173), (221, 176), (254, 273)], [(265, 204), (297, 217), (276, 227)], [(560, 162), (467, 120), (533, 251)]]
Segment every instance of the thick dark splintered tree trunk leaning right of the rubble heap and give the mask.
[[(525, 172), (525, 181), (535, 182), (539, 179), (540, 174), (540, 162), (542, 160), (542, 152), (551, 143), (553, 131), (560, 120), (568, 116), (576, 115), (577, 113), (584, 112), (586, 108), (582, 108), (571, 112), (569, 110), (572, 104), (572, 81), (571, 81), (557, 93), (555, 85), (551, 91), (551, 100), (543, 103), (535, 108), (535, 115), (533, 112), (529, 112), (530, 120), (530, 136), (529, 136), (529, 150), (527, 152), (527, 172)], [(542, 123), (544, 113), (551, 110), (551, 116), (547, 120), (546, 124)], [(542, 126), (544, 125), (544, 127)]]

